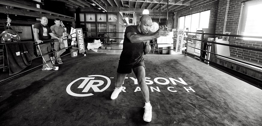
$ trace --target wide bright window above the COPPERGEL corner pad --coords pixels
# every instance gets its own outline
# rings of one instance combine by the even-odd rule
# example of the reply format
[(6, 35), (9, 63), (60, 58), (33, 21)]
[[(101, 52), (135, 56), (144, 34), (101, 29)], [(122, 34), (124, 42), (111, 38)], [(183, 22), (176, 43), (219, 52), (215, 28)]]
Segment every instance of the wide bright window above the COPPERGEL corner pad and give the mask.
[[(210, 10), (179, 17), (178, 28), (188, 28), (190, 32), (196, 32), (197, 28), (208, 28)], [(189, 33), (195, 35), (193, 33)]]

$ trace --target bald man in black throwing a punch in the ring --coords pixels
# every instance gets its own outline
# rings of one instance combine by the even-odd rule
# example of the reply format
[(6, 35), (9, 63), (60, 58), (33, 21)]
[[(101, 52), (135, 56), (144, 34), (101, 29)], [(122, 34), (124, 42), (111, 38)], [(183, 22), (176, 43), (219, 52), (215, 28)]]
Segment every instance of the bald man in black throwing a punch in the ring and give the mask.
[(143, 120), (146, 122), (150, 122), (152, 120), (152, 106), (149, 102), (149, 89), (145, 80), (146, 66), (144, 64), (143, 53), (148, 54), (150, 52), (150, 39), (169, 35), (169, 31), (164, 29), (159, 29), (153, 34), (147, 34), (151, 26), (151, 17), (143, 15), (140, 18), (138, 25), (128, 26), (125, 29), (123, 51), (120, 55), (116, 73), (116, 88), (111, 95), (111, 99), (116, 99), (118, 97), (119, 93), (123, 89), (122, 84), (124, 83), (125, 77), (133, 70), (145, 99), (145, 113)]

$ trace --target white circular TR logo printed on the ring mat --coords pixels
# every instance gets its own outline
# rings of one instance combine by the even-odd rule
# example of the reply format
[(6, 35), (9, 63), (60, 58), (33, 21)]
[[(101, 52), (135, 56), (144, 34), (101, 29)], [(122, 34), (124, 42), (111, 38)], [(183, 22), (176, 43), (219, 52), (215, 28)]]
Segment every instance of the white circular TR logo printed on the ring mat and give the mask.
[[(98, 78), (98, 79), (97, 79)], [(97, 79), (97, 80), (96, 80)], [(107, 80), (107, 85), (103, 89), (99, 89), (99, 86), (102, 86), (104, 84), (103, 80)], [(81, 84), (80, 84), (81, 83)], [(111, 81), (108, 77), (103, 75), (89, 75), (88, 77), (82, 77), (74, 80), (66, 87), (66, 92), (69, 95), (77, 96), (77, 97), (85, 97), (85, 96), (91, 96), (94, 95), (92, 93), (87, 93), (90, 88), (94, 90), (94, 92), (103, 92), (106, 90), (111, 84)], [(83, 89), (82, 93), (75, 93), (71, 91), (71, 86), (77, 86), (77, 89)], [(76, 89), (76, 88), (74, 88)], [(85, 93), (85, 94), (83, 94)], [(86, 94), (87, 93), (87, 94)]]

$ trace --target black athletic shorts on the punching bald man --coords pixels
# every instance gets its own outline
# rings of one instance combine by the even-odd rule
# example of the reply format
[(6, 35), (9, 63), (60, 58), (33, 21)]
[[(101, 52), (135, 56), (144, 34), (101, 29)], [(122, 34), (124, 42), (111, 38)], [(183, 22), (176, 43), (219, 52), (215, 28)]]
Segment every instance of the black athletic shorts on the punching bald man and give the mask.
[(143, 66), (146, 69), (144, 58), (137, 60), (135, 62), (132, 62), (132, 63), (122, 63), (119, 60), (117, 72), (119, 74), (130, 74), (132, 73), (132, 69), (138, 66)]

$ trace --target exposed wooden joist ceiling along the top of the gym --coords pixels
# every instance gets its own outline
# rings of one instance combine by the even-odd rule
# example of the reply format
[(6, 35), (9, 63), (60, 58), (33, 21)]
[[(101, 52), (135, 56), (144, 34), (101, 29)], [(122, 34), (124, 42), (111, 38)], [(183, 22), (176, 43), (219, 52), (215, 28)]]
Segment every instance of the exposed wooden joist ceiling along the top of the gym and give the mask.
[(162, 9), (169, 11), (176, 11), (181, 9), (182, 7), (191, 6), (193, 4), (197, 4), (199, 2), (203, 2), (206, 0), (169, 0), (167, 4), (167, 0), (56, 0), (63, 1), (66, 3), (67, 7), (77, 8), (77, 7), (92, 7), (93, 5), (88, 1), (95, 1), (103, 6), (105, 9), (107, 7), (118, 7), (118, 8), (134, 8), (141, 9), (146, 8), (151, 10), (159, 10)]

